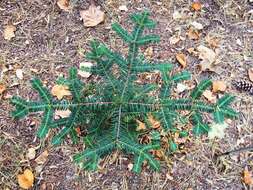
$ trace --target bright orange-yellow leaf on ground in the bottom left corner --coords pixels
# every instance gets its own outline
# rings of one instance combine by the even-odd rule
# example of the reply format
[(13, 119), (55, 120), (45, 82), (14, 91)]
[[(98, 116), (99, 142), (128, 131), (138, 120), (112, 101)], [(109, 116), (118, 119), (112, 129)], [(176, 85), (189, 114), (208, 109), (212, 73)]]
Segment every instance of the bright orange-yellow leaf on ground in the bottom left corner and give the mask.
[(23, 174), (17, 175), (18, 184), (23, 189), (29, 189), (33, 186), (34, 176), (31, 170), (26, 169)]

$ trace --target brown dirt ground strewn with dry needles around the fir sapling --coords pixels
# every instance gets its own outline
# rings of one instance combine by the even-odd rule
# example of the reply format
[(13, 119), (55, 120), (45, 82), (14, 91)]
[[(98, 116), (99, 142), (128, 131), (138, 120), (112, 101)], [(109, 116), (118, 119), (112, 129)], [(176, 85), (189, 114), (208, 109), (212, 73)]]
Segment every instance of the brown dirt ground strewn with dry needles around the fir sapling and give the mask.
[[(253, 3), (247, 0), (200, 2), (204, 8), (196, 13), (190, 9), (190, 0), (97, 1), (106, 13), (106, 20), (94, 28), (85, 28), (79, 15), (80, 10), (89, 6), (85, 0), (73, 1), (70, 13), (60, 10), (55, 0), (0, 0), (0, 82), (7, 86), (0, 95), (0, 189), (19, 189), (17, 174), (24, 168), (35, 170), (34, 160), (25, 159), (30, 147), (38, 147), (36, 156), (44, 150), (49, 151), (33, 189), (250, 189), (242, 182), (242, 173), (245, 168), (253, 170), (253, 152), (243, 151), (218, 159), (216, 155), (253, 144), (253, 96), (235, 90), (231, 84), (232, 80), (248, 81), (248, 69), (253, 67)], [(120, 5), (127, 5), (128, 10), (120, 11)], [(237, 96), (233, 107), (240, 112), (240, 117), (229, 123), (225, 138), (211, 141), (203, 136), (195, 139), (187, 145), (185, 153), (175, 153), (169, 158), (169, 166), (162, 163), (160, 173), (144, 168), (140, 175), (135, 175), (127, 167), (131, 158), (119, 154), (115, 159), (116, 153), (105, 158), (100, 171), (81, 171), (71, 160), (71, 155), (80, 147), (68, 141), (52, 147), (50, 137), (40, 142), (35, 137), (39, 117), (13, 120), (8, 97), (20, 95), (36, 99), (29, 80), (37, 76), (52, 87), (60, 74), (66, 74), (70, 66), (79, 66), (84, 61), (88, 42), (93, 38), (124, 51), (123, 43), (110, 25), (119, 21), (129, 28), (127, 16), (143, 9), (149, 9), (158, 22), (154, 33), (160, 35), (161, 43), (152, 46), (153, 58), (170, 60), (179, 67), (175, 55), (185, 53), (186, 69), (193, 74), (193, 79), (226, 81), (226, 92)], [(185, 17), (175, 20), (175, 11)], [(187, 37), (192, 21), (203, 25), (198, 40)], [(17, 27), (11, 41), (2, 35), (8, 23)], [(170, 43), (169, 39), (176, 34), (182, 40)], [(200, 60), (186, 50), (201, 44), (208, 46), (208, 37), (219, 39), (215, 49), (219, 63), (215, 72), (200, 73), (197, 67)], [(17, 69), (23, 70), (22, 80), (16, 77)]]

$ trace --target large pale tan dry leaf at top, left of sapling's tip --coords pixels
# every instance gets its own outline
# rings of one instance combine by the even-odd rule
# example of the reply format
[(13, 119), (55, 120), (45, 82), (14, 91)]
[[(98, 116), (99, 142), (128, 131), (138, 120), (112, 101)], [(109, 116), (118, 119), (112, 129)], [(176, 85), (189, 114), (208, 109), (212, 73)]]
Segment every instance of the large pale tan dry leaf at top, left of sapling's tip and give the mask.
[(100, 7), (96, 7), (94, 4), (91, 4), (88, 10), (80, 11), (80, 15), (86, 27), (97, 26), (105, 20), (105, 13), (100, 10)]

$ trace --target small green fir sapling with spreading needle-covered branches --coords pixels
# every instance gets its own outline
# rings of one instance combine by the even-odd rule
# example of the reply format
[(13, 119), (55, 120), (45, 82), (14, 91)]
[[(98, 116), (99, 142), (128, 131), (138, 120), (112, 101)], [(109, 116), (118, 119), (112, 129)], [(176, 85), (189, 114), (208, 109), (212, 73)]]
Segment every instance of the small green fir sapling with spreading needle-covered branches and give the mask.
[[(149, 128), (151, 142), (141, 144), (139, 137), (141, 132), (136, 130), (137, 119), (147, 125), (148, 114), (152, 114), (161, 123), (164, 133), (179, 131), (176, 128), (178, 122), (185, 124), (189, 119), (196, 135), (208, 132), (208, 124), (203, 120), (204, 112), (212, 113), (218, 123), (224, 122), (226, 117), (236, 117), (237, 113), (229, 108), (233, 96), (225, 95), (216, 104), (207, 104), (201, 99), (205, 89), (210, 87), (211, 81), (202, 81), (184, 99), (173, 99), (170, 94), (177, 82), (190, 79), (186, 71), (172, 74), (173, 65), (170, 63), (152, 63), (145, 61), (139, 54), (143, 45), (158, 42), (156, 35), (143, 35), (144, 29), (152, 29), (155, 22), (148, 18), (149, 13), (131, 15), (134, 28), (131, 33), (123, 29), (119, 24), (112, 25), (112, 29), (128, 45), (127, 56), (114, 52), (98, 41), (91, 42), (91, 50), (87, 59), (95, 62), (90, 69), (93, 75), (99, 75), (102, 80), (99, 84), (83, 84), (77, 77), (77, 69), (71, 68), (68, 78), (60, 78), (59, 84), (67, 85), (72, 93), (70, 100), (56, 100), (51, 96), (47, 88), (43, 87), (39, 79), (32, 80), (32, 87), (38, 92), (40, 100), (26, 101), (19, 97), (13, 97), (11, 103), (16, 106), (12, 116), (23, 118), (29, 113), (43, 112), (42, 121), (38, 130), (38, 137), (45, 138), (48, 131), (58, 131), (52, 139), (52, 144), (58, 145), (69, 136), (73, 143), (78, 143), (80, 135), (77, 127), (85, 132), (83, 141), (85, 150), (74, 156), (77, 163), (89, 170), (95, 170), (99, 160), (114, 150), (134, 155), (134, 172), (140, 172), (143, 162), (148, 161), (151, 168), (159, 170), (159, 162), (150, 153), (159, 149), (159, 130)], [(118, 74), (114, 73), (113, 66), (118, 68)], [(161, 73), (162, 85), (141, 85), (136, 83), (137, 75), (143, 72), (158, 70)], [(150, 96), (152, 91), (158, 92), (158, 96)], [(55, 120), (56, 110), (70, 110), (68, 118)], [(188, 114), (182, 116), (181, 110), (187, 110)], [(189, 134), (180, 131), (180, 136)], [(177, 144), (169, 141), (170, 152), (177, 149)]]

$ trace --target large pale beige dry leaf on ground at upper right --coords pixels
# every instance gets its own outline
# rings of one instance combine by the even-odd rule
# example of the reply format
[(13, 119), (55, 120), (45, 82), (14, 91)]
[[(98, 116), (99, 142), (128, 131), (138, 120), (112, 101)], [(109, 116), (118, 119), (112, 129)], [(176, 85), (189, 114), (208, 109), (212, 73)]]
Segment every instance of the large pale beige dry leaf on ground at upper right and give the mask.
[(203, 45), (198, 46), (197, 50), (199, 52), (199, 59), (202, 60), (200, 62), (201, 71), (206, 70), (214, 71), (213, 64), (217, 58), (216, 53), (212, 49), (205, 47)]

